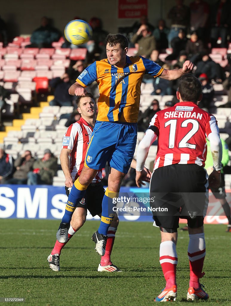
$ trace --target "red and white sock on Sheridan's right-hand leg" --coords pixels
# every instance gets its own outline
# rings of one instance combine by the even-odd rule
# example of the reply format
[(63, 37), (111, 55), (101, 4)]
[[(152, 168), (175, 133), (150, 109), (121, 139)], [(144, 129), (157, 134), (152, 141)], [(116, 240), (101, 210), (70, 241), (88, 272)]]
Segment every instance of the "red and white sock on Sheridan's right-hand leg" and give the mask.
[(199, 289), (200, 278), (204, 276), (204, 273), (202, 273), (205, 257), (204, 233), (189, 235), (188, 256), (190, 267), (189, 287)]

